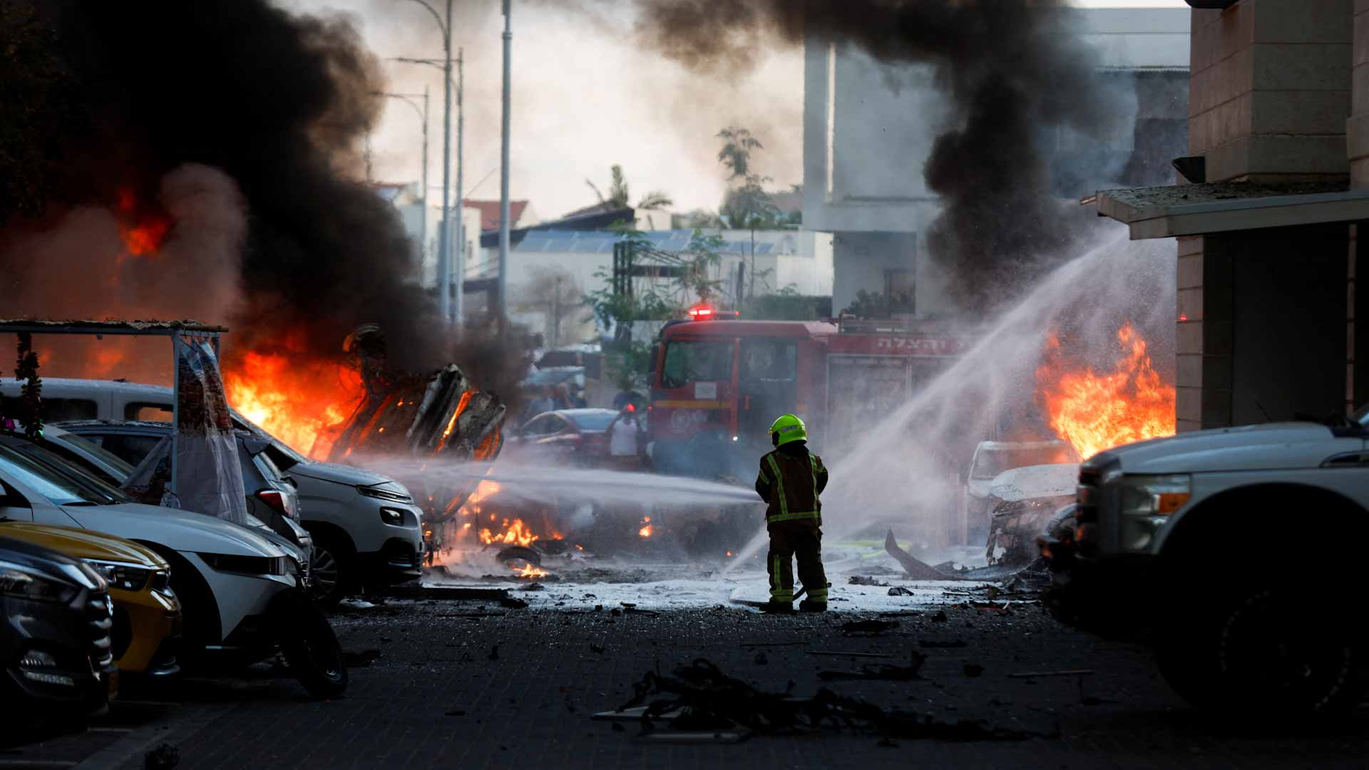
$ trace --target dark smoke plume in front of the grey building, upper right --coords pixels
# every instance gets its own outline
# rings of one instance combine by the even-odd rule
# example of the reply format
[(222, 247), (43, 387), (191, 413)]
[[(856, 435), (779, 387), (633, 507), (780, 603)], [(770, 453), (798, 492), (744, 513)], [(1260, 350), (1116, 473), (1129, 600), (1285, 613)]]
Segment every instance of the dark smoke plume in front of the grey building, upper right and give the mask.
[[(858, 47), (936, 70), (956, 115), (921, 173), (943, 210), (928, 248), (971, 311), (1057, 264), (1082, 230), (1050, 190), (1050, 129), (1099, 136), (1123, 114), (1065, 0), (638, 0), (642, 44), (700, 71), (753, 63), (784, 41)], [(909, 115), (917, 122), (919, 115)], [(890, 130), (897, 130), (891, 126)], [(1077, 210), (1077, 207), (1072, 207)]]

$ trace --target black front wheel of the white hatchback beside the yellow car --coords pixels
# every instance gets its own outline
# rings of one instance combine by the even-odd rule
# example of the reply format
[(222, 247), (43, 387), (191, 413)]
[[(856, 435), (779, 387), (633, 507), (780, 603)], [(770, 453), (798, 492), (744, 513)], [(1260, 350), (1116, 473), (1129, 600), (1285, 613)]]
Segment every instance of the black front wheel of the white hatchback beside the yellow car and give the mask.
[(303, 592), (282, 592), (271, 604), (277, 641), (294, 678), (315, 697), (346, 692), (346, 662), (333, 626)]

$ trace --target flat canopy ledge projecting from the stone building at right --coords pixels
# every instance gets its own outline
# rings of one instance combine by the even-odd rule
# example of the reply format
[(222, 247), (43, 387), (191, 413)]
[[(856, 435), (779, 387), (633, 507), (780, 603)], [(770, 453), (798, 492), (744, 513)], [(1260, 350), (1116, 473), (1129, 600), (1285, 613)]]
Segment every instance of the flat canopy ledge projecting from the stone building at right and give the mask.
[(1131, 227), (1131, 238), (1369, 219), (1369, 189), (1329, 182), (1209, 182), (1101, 190), (1080, 201)]

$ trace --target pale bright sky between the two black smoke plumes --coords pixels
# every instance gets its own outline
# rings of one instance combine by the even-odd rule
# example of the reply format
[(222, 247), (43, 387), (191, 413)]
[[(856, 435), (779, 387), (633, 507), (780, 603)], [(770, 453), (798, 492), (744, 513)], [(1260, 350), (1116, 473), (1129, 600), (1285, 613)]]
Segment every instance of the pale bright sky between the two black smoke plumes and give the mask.
[[(441, 0), (433, 0), (435, 5)], [(431, 14), (412, 0), (278, 0), (297, 12), (344, 14), (381, 58), (438, 58), (442, 38)], [(591, 0), (586, 0), (590, 7)], [(1184, 7), (1183, 0), (1080, 0), (1082, 7)], [(716, 210), (727, 189), (717, 132), (745, 126), (761, 140), (760, 173), (773, 189), (802, 181), (804, 58), (776, 48), (750, 71), (700, 75), (631, 41), (631, 16), (615, 0), (596, 14), (513, 0), (511, 195), (530, 199), (542, 219), (597, 201), (586, 179), (606, 190), (609, 167), (623, 166), (635, 203), (650, 190), (674, 211)], [(465, 49), (465, 193), (500, 195), (502, 15), (498, 0), (457, 0), (453, 44)], [(389, 90), (430, 92), (428, 185), (442, 181), (442, 74), (385, 62)], [(422, 104), (422, 96), (416, 99)], [(453, 116), (453, 189), (456, 179)], [(371, 177), (418, 181), (418, 111), (386, 99), (370, 137)]]

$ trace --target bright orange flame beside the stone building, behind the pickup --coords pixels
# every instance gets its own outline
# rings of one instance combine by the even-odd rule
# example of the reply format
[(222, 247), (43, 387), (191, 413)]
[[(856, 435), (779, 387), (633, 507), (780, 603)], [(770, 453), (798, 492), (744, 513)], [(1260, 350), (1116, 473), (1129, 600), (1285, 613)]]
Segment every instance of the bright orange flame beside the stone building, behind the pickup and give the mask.
[[(1051, 345), (1058, 341), (1051, 338)], [(1088, 459), (1121, 444), (1175, 434), (1175, 386), (1161, 380), (1146, 353), (1146, 340), (1125, 323), (1117, 330), (1123, 358), (1110, 373), (1092, 367), (1061, 371), (1047, 362), (1036, 370), (1036, 389), (1050, 427)]]

